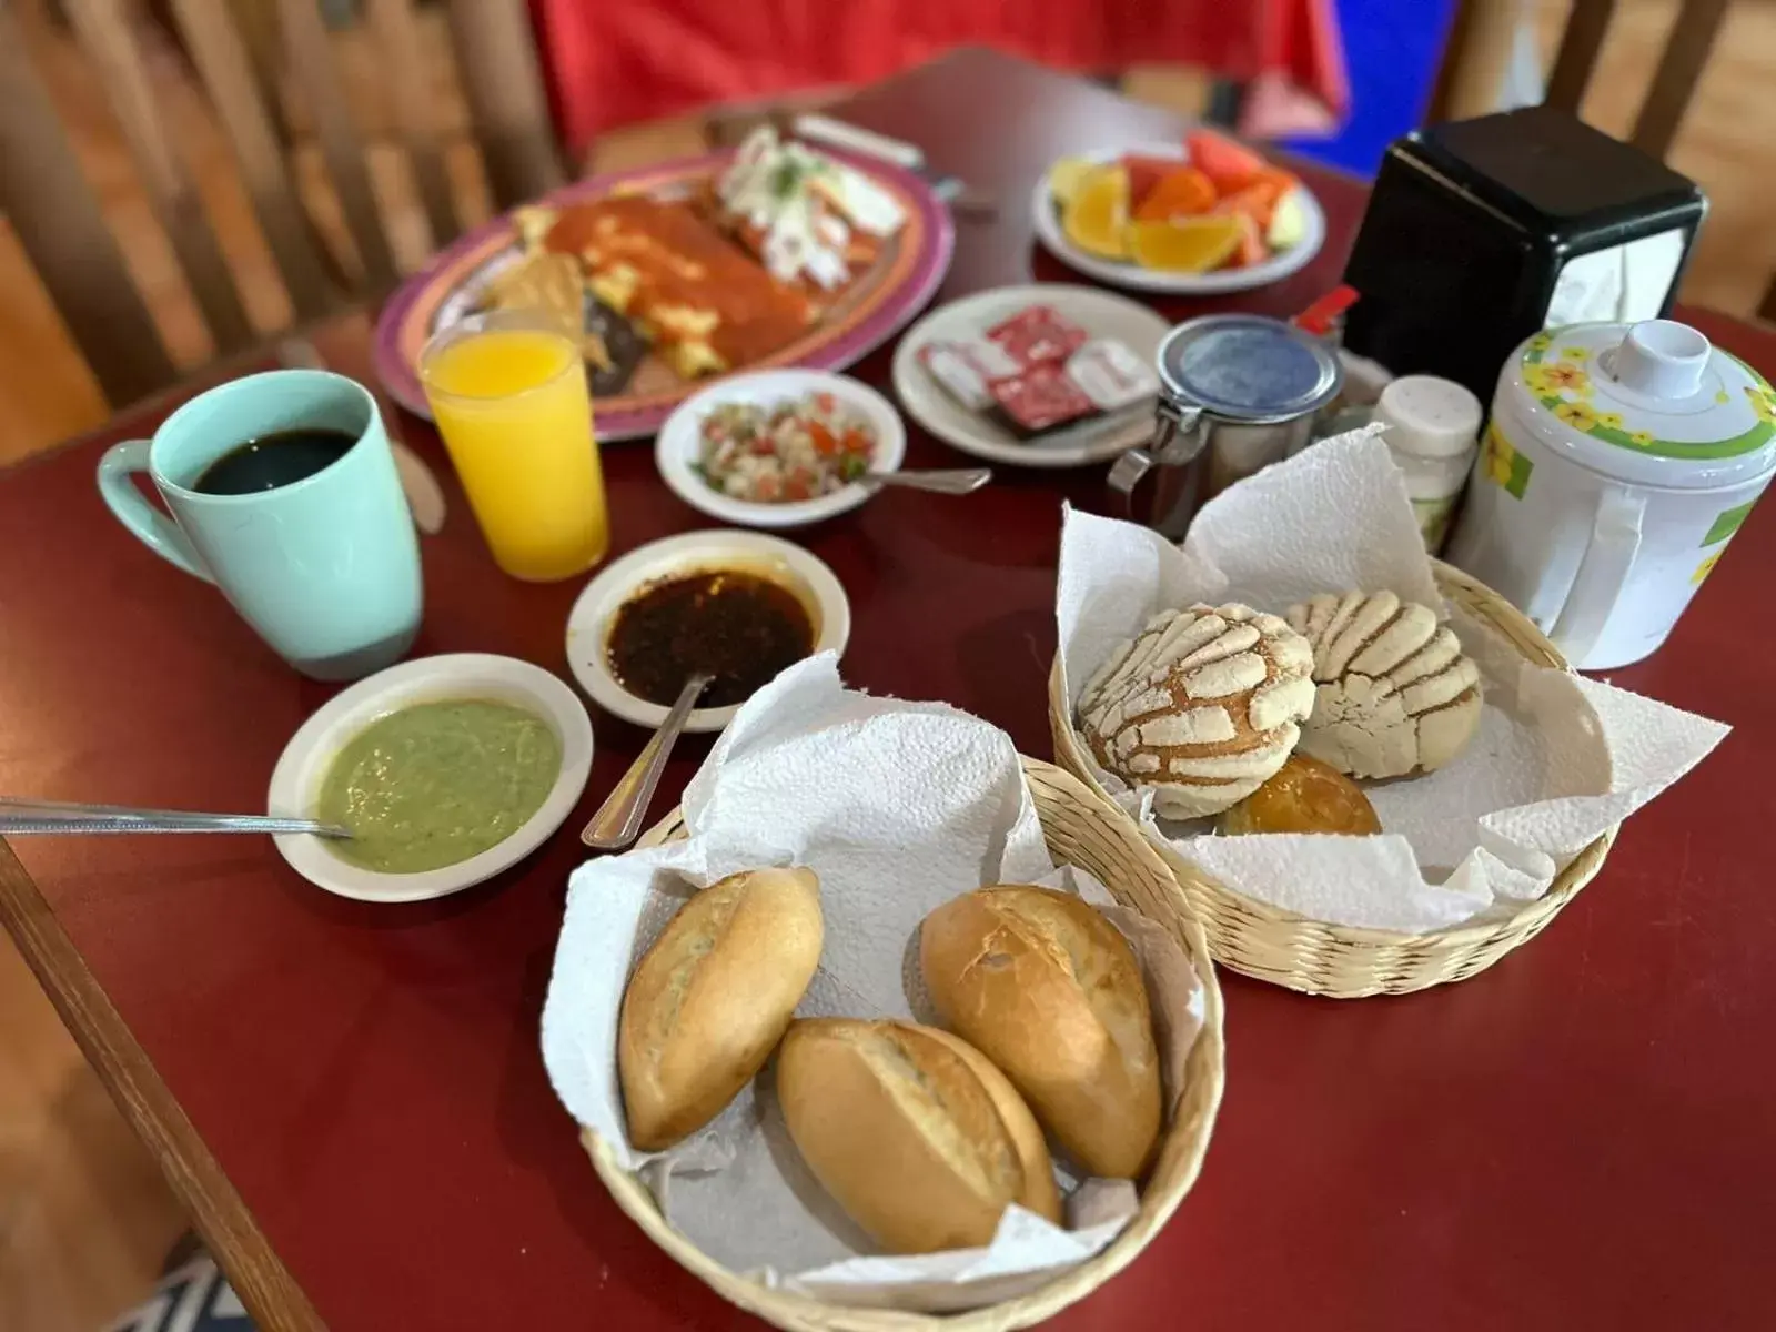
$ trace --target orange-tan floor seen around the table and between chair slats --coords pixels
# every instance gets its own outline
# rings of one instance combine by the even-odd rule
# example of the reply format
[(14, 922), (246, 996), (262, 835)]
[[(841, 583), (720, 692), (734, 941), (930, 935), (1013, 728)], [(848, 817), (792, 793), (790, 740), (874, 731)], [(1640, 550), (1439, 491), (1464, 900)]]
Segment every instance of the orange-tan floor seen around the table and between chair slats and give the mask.
[[(1565, 0), (1531, 0), (1549, 50), (1565, 20)], [(25, 16), (36, 5), (14, 0)], [(1632, 123), (1634, 89), (1645, 87), (1678, 0), (1625, 0), (1586, 105), (1588, 119), (1611, 131)], [(435, 11), (428, 12), (428, 21)], [(437, 99), (462, 126), (442, 32), (432, 23), (423, 59), (435, 75)], [(41, 23), (30, 48), (50, 82), (126, 259), (147, 293), (162, 334), (181, 364), (208, 355), (172, 252), (156, 229), (128, 153), (103, 98), (94, 94), (78, 52)], [(371, 172), (391, 238), (403, 265), (428, 247), (423, 215), (398, 151), (377, 137), (391, 117), (378, 103), (375, 53), (341, 41), (353, 114), (371, 139)], [(229, 163), (227, 146), (192, 89), (178, 55), (151, 48), (155, 85), (178, 140), (217, 220), (222, 247), (240, 274), (254, 321), (272, 330), (288, 304)], [(1677, 169), (1700, 179), (1714, 199), (1685, 295), (1749, 313), (1776, 270), (1776, 227), (1767, 224), (1769, 85), (1776, 82), (1776, 4), (1740, 0), (1707, 80), (1673, 149)], [(1197, 105), (1201, 82), (1140, 71), (1130, 91), (1154, 101)], [(1360, 96), (1360, 89), (1357, 91)], [(630, 165), (694, 149), (694, 121), (641, 126), (611, 135), (600, 165)], [(311, 186), (321, 181), (313, 153), (298, 158)], [(469, 217), (485, 213), (485, 190), (467, 146), (451, 156), (451, 174)], [(330, 201), (320, 215), (329, 224)], [(76, 430), (98, 424), (105, 403), (66, 341), (53, 309), (0, 218), (0, 465)], [(144, 1293), (183, 1217), (153, 1162), (117, 1117), (96, 1076), (62, 1030), (11, 943), (0, 938), (0, 1328), (12, 1332), (94, 1332)]]

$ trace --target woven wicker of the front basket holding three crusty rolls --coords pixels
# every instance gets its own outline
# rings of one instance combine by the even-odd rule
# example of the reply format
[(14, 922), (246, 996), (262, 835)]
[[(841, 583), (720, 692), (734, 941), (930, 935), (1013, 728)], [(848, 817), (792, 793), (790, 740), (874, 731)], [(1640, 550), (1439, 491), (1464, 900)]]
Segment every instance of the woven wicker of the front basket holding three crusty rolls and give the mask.
[[(671, 1254), (691, 1275), (712, 1286), (718, 1295), (776, 1327), (792, 1328), (792, 1332), (906, 1332), (908, 1328), (1003, 1332), (1005, 1328), (1030, 1327), (1051, 1318), (1074, 1300), (1085, 1298), (1128, 1266), (1177, 1209), (1202, 1169), (1225, 1073), (1222, 998), (1202, 931), (1190, 918), (1190, 909), (1179, 900), (1177, 884), (1165, 863), (1119, 810), (1106, 810), (1076, 780), (1037, 758), (1025, 758), (1023, 771), (1030, 783), (1035, 812), (1043, 819), (1048, 851), (1055, 861), (1090, 872), (1115, 893), (1119, 902), (1163, 924), (1183, 945), (1202, 979), (1202, 1032), (1190, 1050), (1185, 1096), (1160, 1142), (1158, 1162), (1140, 1193), (1140, 1209), (1128, 1229), (1101, 1254), (1016, 1300), (943, 1316), (858, 1309), (765, 1289), (707, 1257), (666, 1224), (646, 1185), (616, 1163), (606, 1140), (586, 1130), (583, 1138), (599, 1177), (604, 1179), (616, 1204), (648, 1233), (648, 1238)], [(684, 835), (680, 815), (673, 810), (641, 838), (639, 845), (659, 845)]]

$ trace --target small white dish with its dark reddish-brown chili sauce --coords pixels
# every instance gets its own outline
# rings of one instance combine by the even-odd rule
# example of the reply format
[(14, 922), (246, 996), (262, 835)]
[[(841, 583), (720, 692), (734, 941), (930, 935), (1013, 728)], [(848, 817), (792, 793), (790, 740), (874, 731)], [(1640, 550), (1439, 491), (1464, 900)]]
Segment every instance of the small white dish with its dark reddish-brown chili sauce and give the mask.
[(591, 702), (659, 726), (686, 678), (716, 678), (686, 730), (728, 725), (751, 694), (817, 652), (844, 652), (851, 602), (822, 559), (751, 531), (698, 531), (630, 551), (574, 602), (567, 661)]

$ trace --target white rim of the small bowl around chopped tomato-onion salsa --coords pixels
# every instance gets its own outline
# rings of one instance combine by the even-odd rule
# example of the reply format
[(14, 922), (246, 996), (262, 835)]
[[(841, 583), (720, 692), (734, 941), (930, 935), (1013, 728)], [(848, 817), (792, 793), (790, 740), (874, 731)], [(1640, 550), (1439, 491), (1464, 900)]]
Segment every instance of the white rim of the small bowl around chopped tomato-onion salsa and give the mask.
[(870, 497), (870, 492), (860, 485), (842, 487), (819, 499), (758, 504), (712, 490), (694, 471), (700, 446), (698, 426), (716, 407), (723, 403), (773, 407), (787, 398), (806, 398), (810, 392), (833, 394), (847, 407), (856, 408), (874, 426), (872, 471), (892, 472), (900, 467), (900, 460), (906, 456), (906, 426), (893, 403), (867, 384), (824, 369), (760, 369), (710, 384), (702, 392), (686, 398), (678, 410), (666, 417), (654, 444), (654, 462), (678, 499), (723, 522), (741, 522), (748, 527), (803, 527), (854, 510)]

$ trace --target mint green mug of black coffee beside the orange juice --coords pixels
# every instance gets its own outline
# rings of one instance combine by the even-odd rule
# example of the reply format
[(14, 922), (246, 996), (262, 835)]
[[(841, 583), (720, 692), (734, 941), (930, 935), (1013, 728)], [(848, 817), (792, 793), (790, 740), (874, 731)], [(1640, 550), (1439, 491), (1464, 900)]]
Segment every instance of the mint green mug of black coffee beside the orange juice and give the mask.
[[(314, 440), (325, 449), (298, 458), (318, 465), (300, 480), (215, 494), (218, 464), (238, 472), (252, 440), (270, 440), (263, 448), (277, 451), (268, 455), (274, 462), (286, 442)], [(147, 501), (133, 472), (149, 474), (170, 519)], [(364, 385), (320, 369), (233, 380), (185, 403), (151, 440), (110, 448), (98, 480), (123, 526), (169, 563), (215, 583), (304, 675), (355, 680), (412, 646), (419, 540), (387, 430)]]

